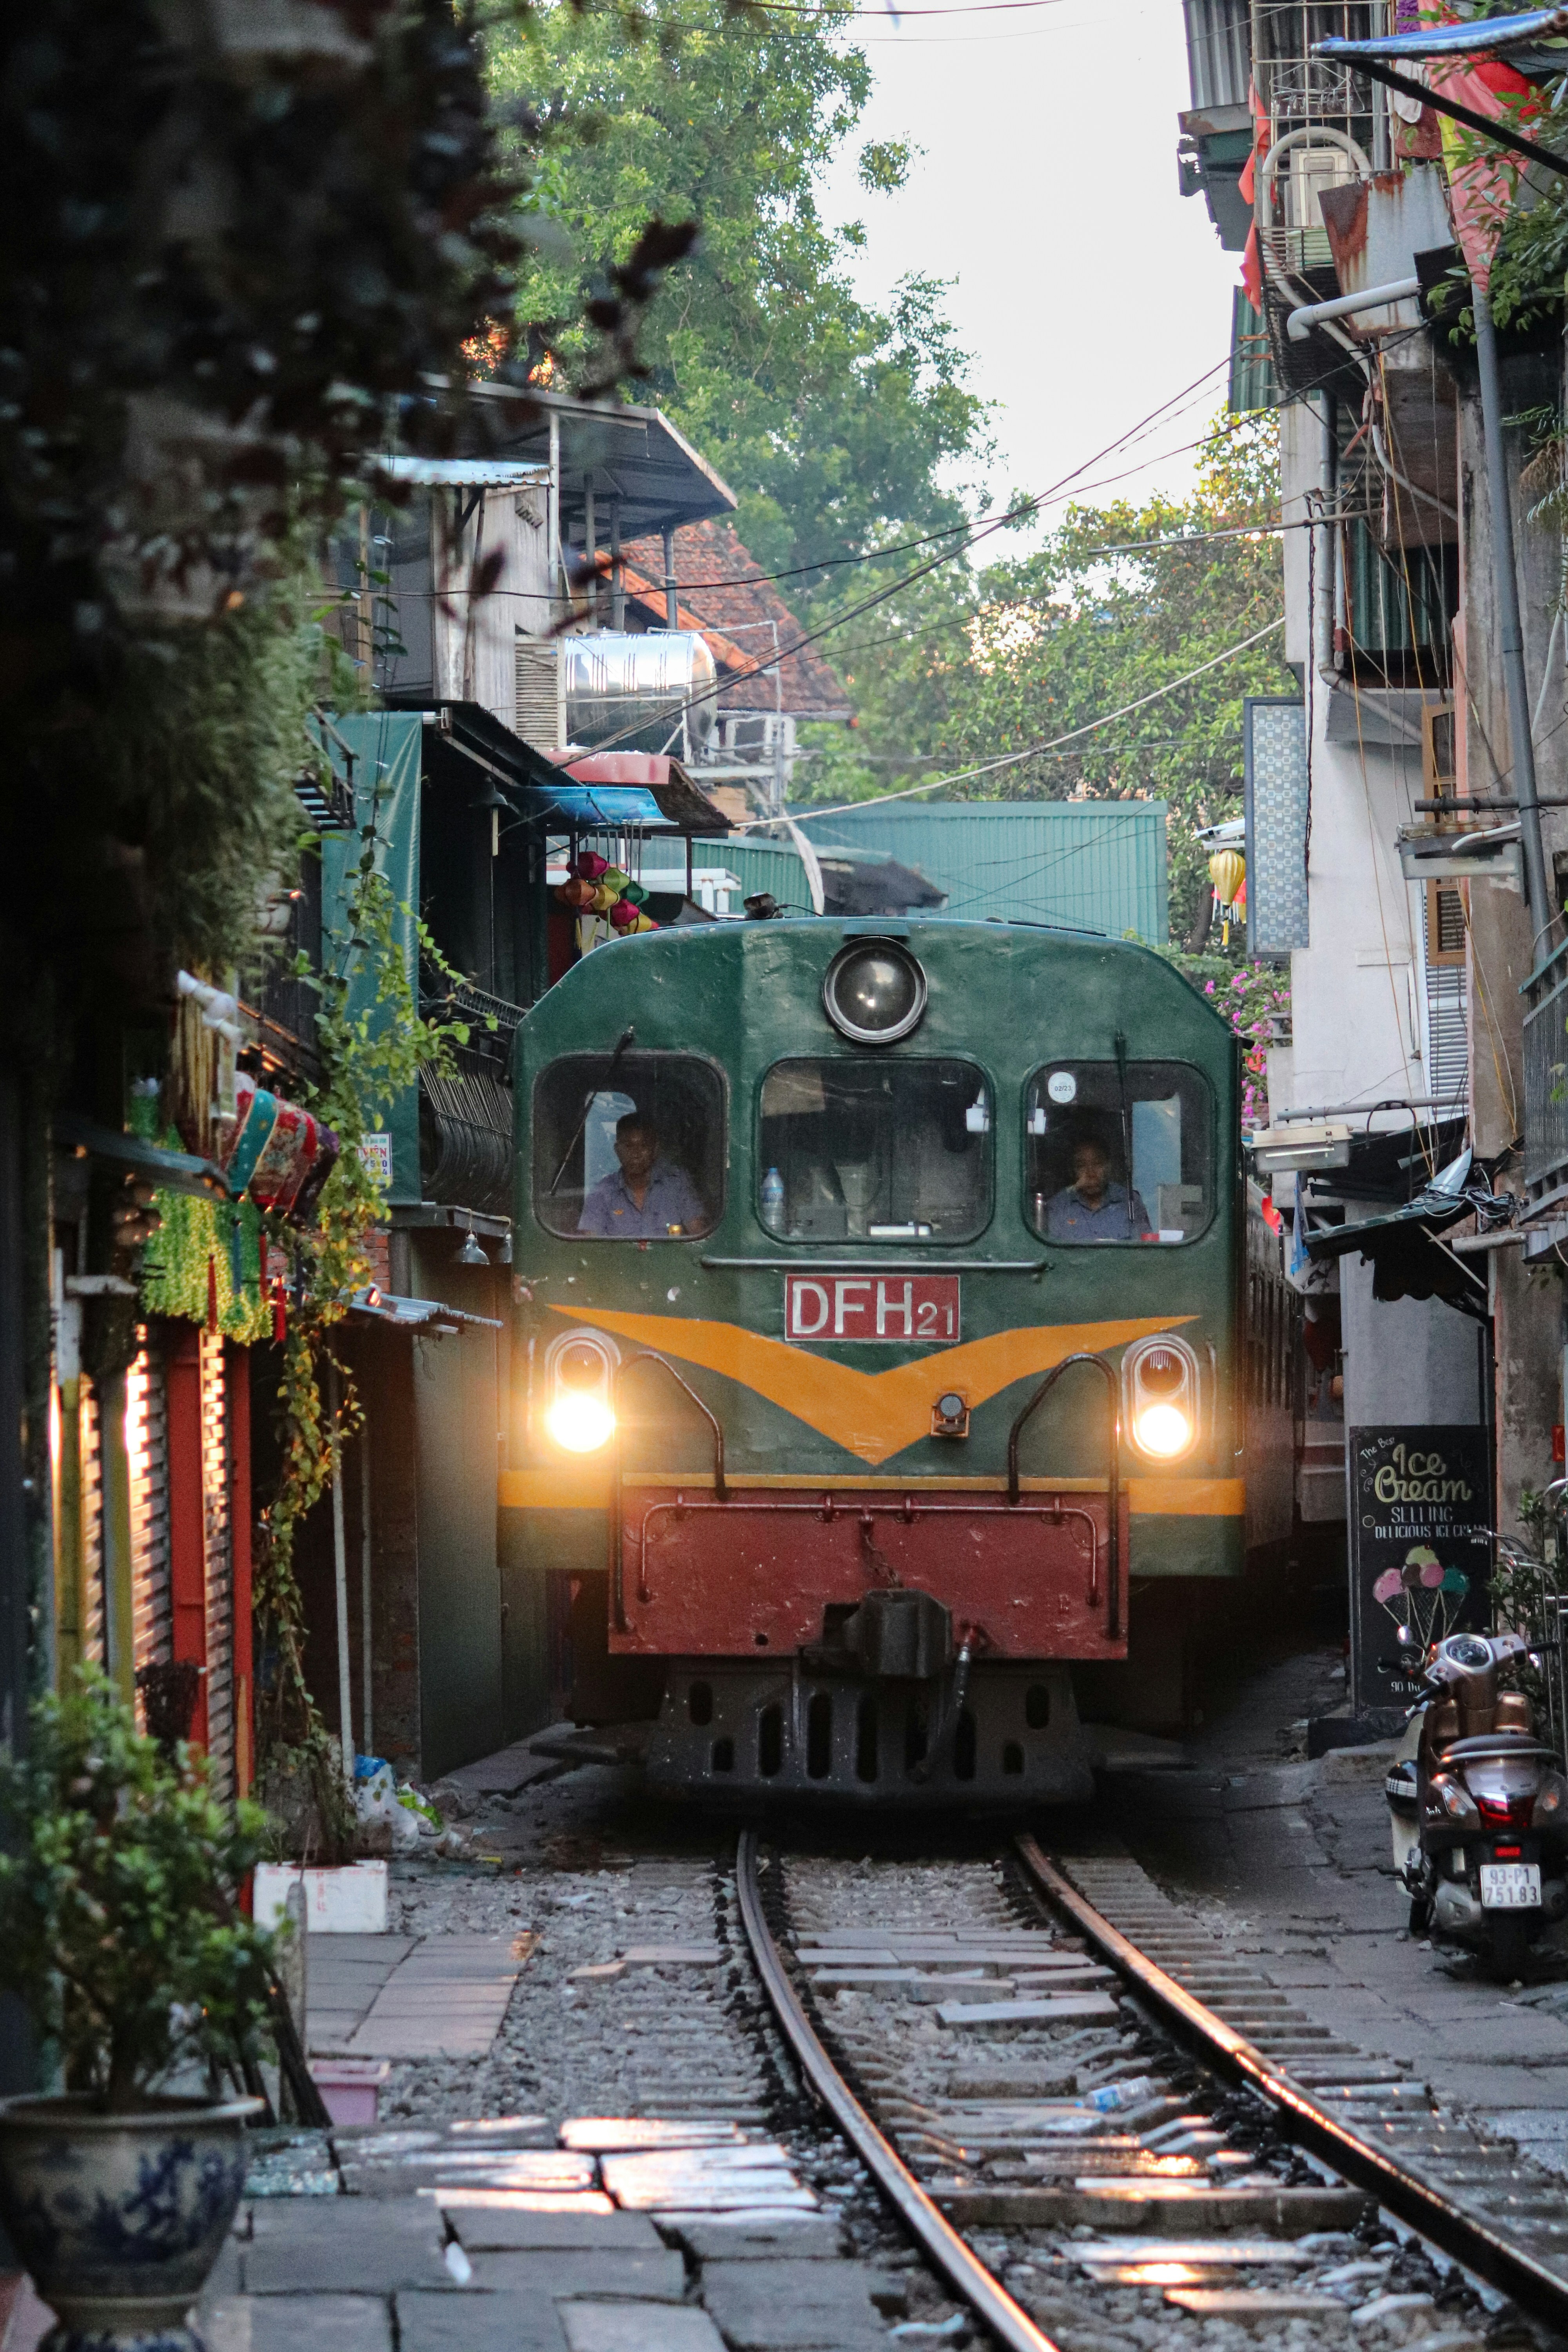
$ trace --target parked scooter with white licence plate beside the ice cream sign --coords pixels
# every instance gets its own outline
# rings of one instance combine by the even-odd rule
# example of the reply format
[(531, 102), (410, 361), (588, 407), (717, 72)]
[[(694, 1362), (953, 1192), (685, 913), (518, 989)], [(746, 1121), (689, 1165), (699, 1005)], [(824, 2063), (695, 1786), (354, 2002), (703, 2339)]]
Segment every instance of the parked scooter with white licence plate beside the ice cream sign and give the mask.
[(1432, 1696), (1410, 1710), (1385, 1780), (1410, 1933), (1472, 1947), (1497, 1983), (1568, 1915), (1568, 1778), (1535, 1736), (1528, 1696), (1497, 1689), (1497, 1670), (1526, 1651), (1516, 1632), (1436, 1642), (1422, 1677)]

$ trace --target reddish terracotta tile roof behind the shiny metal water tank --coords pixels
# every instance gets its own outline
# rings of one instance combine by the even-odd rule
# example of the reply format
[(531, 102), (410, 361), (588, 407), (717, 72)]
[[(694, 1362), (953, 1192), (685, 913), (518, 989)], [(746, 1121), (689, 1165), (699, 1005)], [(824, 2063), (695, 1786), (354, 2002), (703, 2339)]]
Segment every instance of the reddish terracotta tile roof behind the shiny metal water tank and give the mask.
[[(630, 539), (623, 560), (628, 600), (663, 628), (663, 541)], [(752, 663), (771, 659), (771, 623), (778, 623), (780, 644), (792, 644), (804, 623), (790, 612), (773, 583), (762, 576), (762, 564), (741, 546), (729, 522), (682, 524), (675, 534), (675, 579), (724, 583), (719, 588), (677, 588), (682, 628), (703, 630), (719, 675), (731, 680), (719, 696), (719, 710), (773, 710), (773, 670), (757, 670)], [(849, 689), (832, 663), (823, 661), (816, 644), (806, 644), (799, 654), (785, 654), (780, 670), (783, 708), (795, 717), (844, 717), (849, 713)]]

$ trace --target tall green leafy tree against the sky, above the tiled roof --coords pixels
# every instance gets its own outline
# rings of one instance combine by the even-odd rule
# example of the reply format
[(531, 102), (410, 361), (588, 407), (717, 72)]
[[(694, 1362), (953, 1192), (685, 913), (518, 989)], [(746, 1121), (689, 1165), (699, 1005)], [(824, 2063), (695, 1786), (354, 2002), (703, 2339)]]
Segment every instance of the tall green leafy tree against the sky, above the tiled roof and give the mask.
[[(644, 397), (731, 482), (741, 536), (780, 567), (961, 520), (947, 473), (983, 442), (943, 287), (912, 275), (886, 310), (858, 301), (846, 261), (863, 230), (818, 209), (870, 94), (849, 21), (849, 7), (686, 0), (679, 26), (635, 38), (637, 19), (557, 0), (491, 49), (531, 176), (527, 355), (581, 376), (590, 329), (576, 322), (611, 263), (649, 216), (696, 219), (696, 254), (642, 325)], [(872, 141), (860, 183), (896, 191), (910, 165), (900, 141)]]

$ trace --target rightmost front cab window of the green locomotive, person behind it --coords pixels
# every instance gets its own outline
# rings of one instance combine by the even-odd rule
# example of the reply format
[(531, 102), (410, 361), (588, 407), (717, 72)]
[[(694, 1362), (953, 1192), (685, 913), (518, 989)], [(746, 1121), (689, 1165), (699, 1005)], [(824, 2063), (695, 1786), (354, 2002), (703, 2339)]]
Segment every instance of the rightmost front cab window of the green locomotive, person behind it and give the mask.
[(1046, 1242), (1192, 1242), (1213, 1216), (1213, 1105), (1178, 1061), (1056, 1061), (1025, 1094), (1025, 1209)]

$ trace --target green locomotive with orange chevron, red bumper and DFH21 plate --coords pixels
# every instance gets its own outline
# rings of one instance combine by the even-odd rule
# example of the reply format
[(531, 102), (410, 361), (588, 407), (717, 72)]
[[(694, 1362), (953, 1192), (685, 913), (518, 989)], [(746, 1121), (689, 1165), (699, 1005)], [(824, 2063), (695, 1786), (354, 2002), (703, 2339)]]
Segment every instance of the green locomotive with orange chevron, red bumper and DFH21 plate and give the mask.
[(517, 1033), (512, 1557), (658, 1788), (1088, 1792), (1074, 1668), (1241, 1571), (1237, 1042), (1157, 955), (731, 922)]

